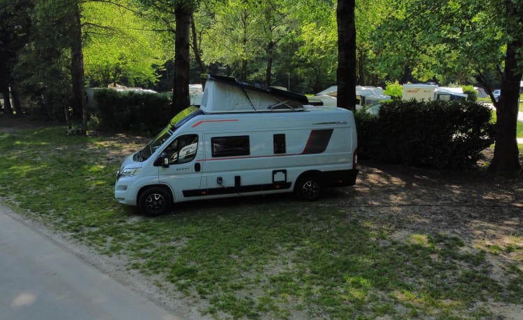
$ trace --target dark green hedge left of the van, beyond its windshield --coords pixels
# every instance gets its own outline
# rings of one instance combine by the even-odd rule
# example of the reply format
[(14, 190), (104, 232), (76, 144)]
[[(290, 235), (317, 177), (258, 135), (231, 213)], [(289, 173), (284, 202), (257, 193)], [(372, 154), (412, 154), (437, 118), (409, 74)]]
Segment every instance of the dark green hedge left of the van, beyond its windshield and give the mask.
[(100, 129), (156, 134), (174, 116), (169, 97), (154, 93), (96, 90), (96, 116)]

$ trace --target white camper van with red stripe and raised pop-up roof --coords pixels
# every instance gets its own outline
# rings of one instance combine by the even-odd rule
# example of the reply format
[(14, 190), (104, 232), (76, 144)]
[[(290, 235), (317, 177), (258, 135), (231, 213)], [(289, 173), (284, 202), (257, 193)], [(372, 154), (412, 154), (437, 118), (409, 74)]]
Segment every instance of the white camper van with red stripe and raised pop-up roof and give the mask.
[(114, 195), (145, 214), (174, 202), (294, 192), (356, 183), (351, 111), (307, 106), (307, 98), (209, 75), (202, 105), (176, 115), (123, 161)]

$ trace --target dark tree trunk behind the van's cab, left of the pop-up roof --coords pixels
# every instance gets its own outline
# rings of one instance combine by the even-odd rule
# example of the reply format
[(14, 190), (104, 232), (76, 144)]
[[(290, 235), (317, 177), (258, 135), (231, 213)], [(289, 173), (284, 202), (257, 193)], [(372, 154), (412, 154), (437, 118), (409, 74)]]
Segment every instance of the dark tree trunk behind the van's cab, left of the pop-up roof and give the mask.
[(174, 114), (190, 106), (190, 16), (192, 12), (183, 1), (174, 6), (176, 39), (174, 40), (174, 86), (172, 90), (172, 111)]

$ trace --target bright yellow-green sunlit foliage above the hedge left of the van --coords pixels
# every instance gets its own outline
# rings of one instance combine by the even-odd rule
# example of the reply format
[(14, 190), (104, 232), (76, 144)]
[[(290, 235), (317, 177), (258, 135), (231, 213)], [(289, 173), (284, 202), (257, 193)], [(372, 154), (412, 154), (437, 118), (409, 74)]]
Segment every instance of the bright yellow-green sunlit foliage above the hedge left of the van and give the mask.
[[(125, 3), (123, 3), (125, 4)], [(122, 4), (122, 5), (123, 5)], [(91, 86), (149, 86), (167, 60), (160, 33), (137, 8), (88, 1), (83, 6), (85, 76)]]

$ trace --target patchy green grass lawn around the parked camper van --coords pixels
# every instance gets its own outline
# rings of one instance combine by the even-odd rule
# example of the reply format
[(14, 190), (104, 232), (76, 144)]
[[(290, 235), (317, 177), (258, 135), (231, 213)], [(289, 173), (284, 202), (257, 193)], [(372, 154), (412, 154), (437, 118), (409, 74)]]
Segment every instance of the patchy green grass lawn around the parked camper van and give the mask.
[[(460, 203), (409, 205), (438, 192), (376, 207), (380, 200), (360, 203), (355, 196), (344, 203), (333, 202), (340, 196), (310, 203), (292, 195), (188, 202), (146, 218), (113, 193), (121, 160), (142, 143), (66, 136), (61, 127), (0, 134), (0, 199), (71, 241), (122, 257), (123, 267), (156, 279), (160, 289), (173, 286), (205, 301), (201, 311), (218, 319), (489, 319), (496, 313), (488, 303), (523, 303), (517, 224), (503, 244), (483, 240), (470, 249), (452, 232), (398, 237), (410, 214), (462, 210)], [(394, 197), (405, 187), (397, 186)], [(449, 197), (467, 194), (460, 186), (443, 188), (452, 190)], [(383, 196), (373, 192), (362, 191)], [(520, 196), (523, 189), (497, 192)], [(471, 201), (482, 198), (492, 196)], [(517, 199), (492, 210), (502, 215)], [(487, 262), (508, 256), (499, 269)]]

